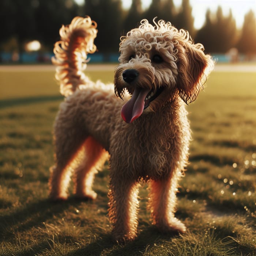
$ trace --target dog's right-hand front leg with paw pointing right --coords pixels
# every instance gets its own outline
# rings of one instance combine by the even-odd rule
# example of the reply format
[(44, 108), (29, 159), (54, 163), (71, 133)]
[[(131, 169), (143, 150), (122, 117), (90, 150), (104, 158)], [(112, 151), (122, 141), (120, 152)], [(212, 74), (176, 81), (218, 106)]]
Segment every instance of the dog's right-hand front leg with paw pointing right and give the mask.
[(153, 224), (162, 232), (186, 231), (185, 225), (174, 217), (177, 181), (178, 178), (174, 174), (170, 178), (151, 180), (149, 183), (148, 208)]

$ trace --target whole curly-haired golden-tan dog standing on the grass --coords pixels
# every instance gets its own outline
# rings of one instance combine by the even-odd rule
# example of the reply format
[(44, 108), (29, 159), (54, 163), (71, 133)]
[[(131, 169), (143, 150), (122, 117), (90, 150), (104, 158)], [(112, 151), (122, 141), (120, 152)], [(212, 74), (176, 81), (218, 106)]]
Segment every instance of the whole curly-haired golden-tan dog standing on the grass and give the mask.
[(96, 27), (90, 17), (76, 17), (60, 29), (61, 41), (54, 48), (56, 78), (66, 99), (54, 126), (50, 197), (67, 199), (74, 171), (75, 195), (95, 199), (94, 175), (109, 153), (114, 239), (136, 237), (140, 180), (148, 182), (153, 224), (164, 232), (184, 232), (174, 212), (177, 182), (188, 161), (185, 103), (196, 99), (214, 63), (187, 31), (163, 20), (152, 26), (144, 19), (121, 37), (114, 85), (94, 83), (82, 70), (87, 53), (96, 50)]

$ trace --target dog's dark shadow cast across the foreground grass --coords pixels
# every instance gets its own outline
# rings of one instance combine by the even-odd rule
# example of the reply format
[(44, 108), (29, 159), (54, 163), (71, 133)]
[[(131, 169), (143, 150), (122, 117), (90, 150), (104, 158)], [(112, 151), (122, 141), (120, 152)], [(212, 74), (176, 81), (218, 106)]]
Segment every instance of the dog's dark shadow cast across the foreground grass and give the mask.
[[(27, 204), (26, 207), (19, 208), (17, 211), (3, 215), (0, 217), (0, 242), (8, 240), (14, 235), (14, 232), (23, 232), (33, 227), (44, 228), (44, 222), (52, 219), (54, 216), (61, 214), (70, 206), (78, 207), (83, 200), (75, 200), (70, 198), (66, 201), (51, 202), (49, 199), (40, 200)], [(143, 227), (140, 227), (142, 225)], [(149, 223), (141, 223), (139, 232), (135, 241), (118, 244), (113, 240), (111, 233), (99, 233), (96, 240), (84, 245), (67, 255), (102, 255), (103, 252), (111, 251), (111, 255), (141, 255), (151, 246), (157, 244), (159, 239), (172, 239), (173, 234), (161, 234), (158, 230)], [(35, 252), (42, 252), (42, 248), (48, 248), (48, 242), (42, 241), (39, 244), (31, 246)], [(20, 255), (27, 255), (30, 251), (23, 252)]]

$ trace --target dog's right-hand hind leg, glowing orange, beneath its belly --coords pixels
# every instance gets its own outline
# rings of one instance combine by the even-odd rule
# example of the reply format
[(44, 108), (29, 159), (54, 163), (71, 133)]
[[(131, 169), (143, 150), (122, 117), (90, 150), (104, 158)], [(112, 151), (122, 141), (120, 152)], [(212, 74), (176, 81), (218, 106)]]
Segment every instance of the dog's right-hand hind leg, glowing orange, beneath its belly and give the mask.
[(95, 199), (97, 194), (92, 189), (94, 176), (106, 161), (108, 154), (92, 137), (86, 139), (82, 153), (83, 160), (75, 170), (74, 193), (78, 198)]

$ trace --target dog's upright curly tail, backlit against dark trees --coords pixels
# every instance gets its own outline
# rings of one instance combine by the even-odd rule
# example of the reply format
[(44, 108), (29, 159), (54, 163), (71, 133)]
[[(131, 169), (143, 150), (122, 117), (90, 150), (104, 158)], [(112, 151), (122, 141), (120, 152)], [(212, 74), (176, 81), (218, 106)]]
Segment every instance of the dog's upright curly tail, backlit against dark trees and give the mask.
[(77, 88), (85, 86), (89, 78), (84, 75), (87, 54), (94, 53), (94, 38), (97, 35), (97, 23), (89, 16), (75, 17), (70, 25), (60, 29), (60, 41), (54, 45), (52, 63), (56, 65), (55, 78), (60, 82), (60, 92), (65, 97)]

